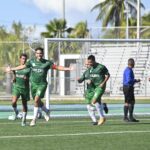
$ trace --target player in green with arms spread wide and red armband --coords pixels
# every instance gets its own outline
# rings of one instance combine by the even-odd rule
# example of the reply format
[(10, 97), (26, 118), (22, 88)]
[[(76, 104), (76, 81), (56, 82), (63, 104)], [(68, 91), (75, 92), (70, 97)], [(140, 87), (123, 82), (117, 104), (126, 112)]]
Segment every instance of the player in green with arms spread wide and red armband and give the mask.
[(15, 68), (7, 68), (9, 70), (20, 70), (23, 68), (31, 68), (30, 82), (31, 82), (31, 93), (34, 99), (34, 116), (30, 123), (30, 126), (34, 126), (37, 120), (38, 107), (46, 113), (45, 120), (49, 120), (50, 111), (44, 106), (41, 99), (45, 95), (47, 88), (47, 72), (49, 69), (56, 69), (60, 71), (71, 71), (72, 67), (63, 67), (53, 64), (52, 61), (43, 58), (43, 48), (38, 47), (35, 49), (35, 58), (30, 59), (26, 64), (17, 66)]

